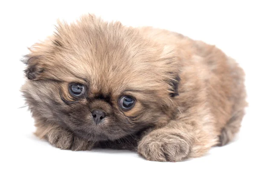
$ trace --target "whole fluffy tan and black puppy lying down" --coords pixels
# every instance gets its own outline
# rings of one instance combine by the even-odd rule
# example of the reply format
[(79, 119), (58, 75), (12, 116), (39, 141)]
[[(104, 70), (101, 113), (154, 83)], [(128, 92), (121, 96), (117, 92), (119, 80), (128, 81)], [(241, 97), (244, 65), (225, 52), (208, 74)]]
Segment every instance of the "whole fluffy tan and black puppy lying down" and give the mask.
[(215, 46), (93, 15), (58, 23), (26, 55), (21, 88), (35, 134), (65, 150), (136, 150), (182, 161), (239, 131), (244, 72)]

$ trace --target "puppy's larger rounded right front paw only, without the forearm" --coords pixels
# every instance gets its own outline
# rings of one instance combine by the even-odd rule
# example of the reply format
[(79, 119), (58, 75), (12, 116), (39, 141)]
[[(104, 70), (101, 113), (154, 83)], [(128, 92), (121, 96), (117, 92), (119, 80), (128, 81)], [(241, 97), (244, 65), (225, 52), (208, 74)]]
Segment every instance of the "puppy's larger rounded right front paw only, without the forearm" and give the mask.
[(186, 159), (191, 148), (186, 134), (153, 131), (139, 142), (138, 153), (151, 161), (177, 162)]

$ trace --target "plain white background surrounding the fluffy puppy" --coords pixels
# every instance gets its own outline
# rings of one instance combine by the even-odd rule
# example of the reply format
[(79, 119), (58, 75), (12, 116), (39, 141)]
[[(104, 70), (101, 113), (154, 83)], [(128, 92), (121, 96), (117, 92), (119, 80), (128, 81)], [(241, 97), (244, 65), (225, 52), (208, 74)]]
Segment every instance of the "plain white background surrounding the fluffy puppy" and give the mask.
[[(252, 1), (0, 2), (0, 181), (256, 181), (256, 6)], [(86, 13), (126, 26), (154, 26), (214, 44), (246, 72), (249, 107), (236, 140), (185, 162), (150, 162), (131, 151), (61, 151), (37, 139), (20, 97), (27, 46), (57, 18)], [(236, 88), (234, 88), (236, 89)]]

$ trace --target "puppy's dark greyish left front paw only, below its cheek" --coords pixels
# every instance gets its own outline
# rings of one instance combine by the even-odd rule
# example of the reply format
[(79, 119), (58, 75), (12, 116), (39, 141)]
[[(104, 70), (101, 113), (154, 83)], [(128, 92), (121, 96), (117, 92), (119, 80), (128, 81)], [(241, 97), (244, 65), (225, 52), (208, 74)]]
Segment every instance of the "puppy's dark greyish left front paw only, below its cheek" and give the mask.
[(85, 151), (93, 147), (93, 143), (76, 137), (72, 132), (62, 128), (52, 128), (46, 136), (49, 143), (57, 148), (72, 151)]

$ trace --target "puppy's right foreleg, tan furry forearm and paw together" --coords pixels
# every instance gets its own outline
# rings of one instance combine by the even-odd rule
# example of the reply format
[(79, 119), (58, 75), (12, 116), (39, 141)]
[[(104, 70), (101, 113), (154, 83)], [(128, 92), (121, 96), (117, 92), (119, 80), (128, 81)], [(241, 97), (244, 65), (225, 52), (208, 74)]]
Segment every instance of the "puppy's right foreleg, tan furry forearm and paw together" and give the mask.
[(195, 120), (170, 121), (163, 128), (146, 134), (138, 143), (138, 152), (148, 160), (176, 162), (202, 156), (218, 142)]

